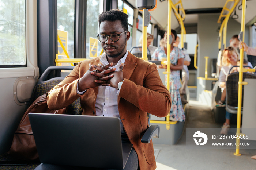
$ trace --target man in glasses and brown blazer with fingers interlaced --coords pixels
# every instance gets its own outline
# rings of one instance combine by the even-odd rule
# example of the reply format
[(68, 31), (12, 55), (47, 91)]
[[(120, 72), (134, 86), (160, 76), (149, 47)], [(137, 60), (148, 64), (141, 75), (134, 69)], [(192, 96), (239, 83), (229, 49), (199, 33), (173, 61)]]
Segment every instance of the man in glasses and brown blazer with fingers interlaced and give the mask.
[(147, 113), (165, 117), (170, 112), (171, 99), (157, 66), (127, 51), (127, 18), (118, 9), (99, 15), (97, 37), (105, 53), (79, 62), (50, 91), (47, 103), (56, 110), (81, 97), (83, 115), (120, 118), (122, 136), (133, 144), (125, 169), (150, 170), (156, 168), (152, 140), (149, 144), (140, 141), (148, 128)]

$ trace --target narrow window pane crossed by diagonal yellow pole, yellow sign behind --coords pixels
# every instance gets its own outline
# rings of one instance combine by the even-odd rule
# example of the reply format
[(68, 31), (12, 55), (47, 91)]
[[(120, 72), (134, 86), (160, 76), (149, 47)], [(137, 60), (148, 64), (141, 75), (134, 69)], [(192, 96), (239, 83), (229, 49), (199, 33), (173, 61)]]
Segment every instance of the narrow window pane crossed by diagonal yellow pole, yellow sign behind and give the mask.
[[(74, 58), (75, 0), (57, 0), (57, 20), (61, 42), (69, 57)], [(58, 54), (66, 56), (59, 41)]]

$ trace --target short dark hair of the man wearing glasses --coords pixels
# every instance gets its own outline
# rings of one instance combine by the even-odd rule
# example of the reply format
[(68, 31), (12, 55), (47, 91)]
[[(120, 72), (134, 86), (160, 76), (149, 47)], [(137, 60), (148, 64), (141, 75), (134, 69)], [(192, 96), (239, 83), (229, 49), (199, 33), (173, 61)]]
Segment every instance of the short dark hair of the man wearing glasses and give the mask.
[(124, 31), (128, 31), (128, 15), (120, 9), (111, 9), (110, 11), (104, 11), (99, 15), (99, 26), (103, 21), (121, 21)]

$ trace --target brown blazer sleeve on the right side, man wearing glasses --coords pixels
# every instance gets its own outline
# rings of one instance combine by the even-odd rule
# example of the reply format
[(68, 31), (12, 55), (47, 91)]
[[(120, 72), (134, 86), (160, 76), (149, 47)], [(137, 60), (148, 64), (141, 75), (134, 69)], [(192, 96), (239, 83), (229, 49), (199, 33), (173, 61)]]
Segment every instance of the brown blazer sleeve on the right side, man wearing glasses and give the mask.
[(118, 97), (124, 98), (144, 112), (158, 117), (165, 117), (170, 112), (171, 98), (169, 91), (163, 85), (154, 63), (150, 63), (146, 72), (136, 72), (133, 82), (124, 79)]

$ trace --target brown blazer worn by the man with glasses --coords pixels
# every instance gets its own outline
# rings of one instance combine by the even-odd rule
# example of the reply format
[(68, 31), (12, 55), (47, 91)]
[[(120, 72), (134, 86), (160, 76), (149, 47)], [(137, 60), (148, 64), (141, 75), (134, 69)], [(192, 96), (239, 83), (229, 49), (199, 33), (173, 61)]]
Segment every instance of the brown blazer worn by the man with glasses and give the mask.
[[(89, 63), (101, 63), (101, 56), (79, 62), (72, 72), (47, 96), (50, 109), (67, 107), (81, 97), (83, 115), (95, 115), (98, 87), (76, 93), (77, 82), (89, 70)], [(163, 85), (154, 63), (144, 61), (128, 52), (123, 68), (124, 81), (118, 95), (118, 110), (124, 130), (135, 149), (141, 170), (156, 169), (152, 140), (149, 144), (140, 139), (148, 128), (147, 113), (165, 117), (171, 108), (169, 91)]]

